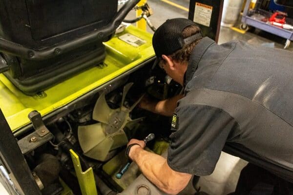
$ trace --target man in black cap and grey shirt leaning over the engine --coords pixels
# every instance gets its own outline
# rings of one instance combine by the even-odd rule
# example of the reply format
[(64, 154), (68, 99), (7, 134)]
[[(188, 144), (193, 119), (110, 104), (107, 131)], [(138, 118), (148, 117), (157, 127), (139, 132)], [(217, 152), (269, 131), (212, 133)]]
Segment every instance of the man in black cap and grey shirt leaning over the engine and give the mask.
[(226, 143), (287, 174), (277, 170), (275, 176), (249, 164), (236, 194), (292, 193), (292, 53), (241, 41), (218, 45), (187, 19), (163, 23), (153, 47), (160, 67), (185, 93), (141, 103), (155, 113), (174, 113), (167, 159), (146, 152), (141, 140), (129, 141), (128, 156), (143, 174), (167, 194), (178, 194), (192, 175), (213, 172)]

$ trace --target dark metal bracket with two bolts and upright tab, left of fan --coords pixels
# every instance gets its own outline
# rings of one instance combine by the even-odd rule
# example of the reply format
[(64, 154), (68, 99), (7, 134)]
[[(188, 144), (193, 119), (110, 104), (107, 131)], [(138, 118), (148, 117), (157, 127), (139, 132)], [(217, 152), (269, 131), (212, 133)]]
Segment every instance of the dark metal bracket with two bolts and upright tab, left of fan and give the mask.
[(21, 152), (24, 155), (35, 150), (54, 137), (44, 125), (41, 114), (38, 111), (30, 112), (28, 118), (31, 120), (36, 131), (18, 141)]

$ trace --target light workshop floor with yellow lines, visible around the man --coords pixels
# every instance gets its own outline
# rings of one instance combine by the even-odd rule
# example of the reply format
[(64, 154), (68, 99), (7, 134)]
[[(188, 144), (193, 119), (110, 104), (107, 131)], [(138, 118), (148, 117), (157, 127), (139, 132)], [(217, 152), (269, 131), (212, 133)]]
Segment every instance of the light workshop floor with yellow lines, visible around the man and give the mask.
[[(147, 2), (154, 13), (149, 19), (156, 28), (167, 19), (188, 18), (189, 0), (148, 0)], [(257, 29), (254, 32), (244, 32), (238, 29), (239, 24), (235, 25), (235, 28), (222, 27), (218, 43), (240, 39), (255, 45), (275, 48), (284, 47), (285, 39)], [(150, 28), (147, 28), (147, 31), (152, 32)], [(293, 44), (290, 45), (288, 50), (293, 51)], [(240, 171), (246, 164), (246, 161), (238, 157), (222, 153), (213, 174), (200, 178), (199, 186), (201, 191), (209, 195), (227, 195), (233, 192)]]

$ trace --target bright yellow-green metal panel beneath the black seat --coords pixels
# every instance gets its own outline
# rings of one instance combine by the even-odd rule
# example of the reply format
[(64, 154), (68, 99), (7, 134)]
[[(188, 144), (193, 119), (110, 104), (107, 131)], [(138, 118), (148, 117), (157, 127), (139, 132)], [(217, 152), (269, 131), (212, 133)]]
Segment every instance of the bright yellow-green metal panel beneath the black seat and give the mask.
[[(119, 39), (130, 33), (146, 43), (134, 47)], [(154, 56), (151, 45), (152, 35), (132, 25), (126, 31), (105, 42), (105, 67), (95, 66), (77, 74), (44, 91), (45, 96), (27, 96), (16, 88), (4, 75), (0, 74), (0, 108), (12, 131), (29, 124), (28, 114), (37, 110), (45, 116), (91, 90), (122, 75), (138, 64)], [(98, 65), (98, 64), (97, 64)]]

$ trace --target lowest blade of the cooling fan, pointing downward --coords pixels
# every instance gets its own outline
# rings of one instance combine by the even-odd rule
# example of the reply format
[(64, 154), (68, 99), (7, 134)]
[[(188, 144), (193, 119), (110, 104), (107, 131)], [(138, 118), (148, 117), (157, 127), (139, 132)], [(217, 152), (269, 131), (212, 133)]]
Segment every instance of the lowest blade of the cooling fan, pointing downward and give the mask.
[(109, 151), (113, 146), (114, 140), (111, 137), (106, 137), (103, 141), (97, 144), (93, 149), (84, 153), (85, 156), (96, 160), (105, 161)]

